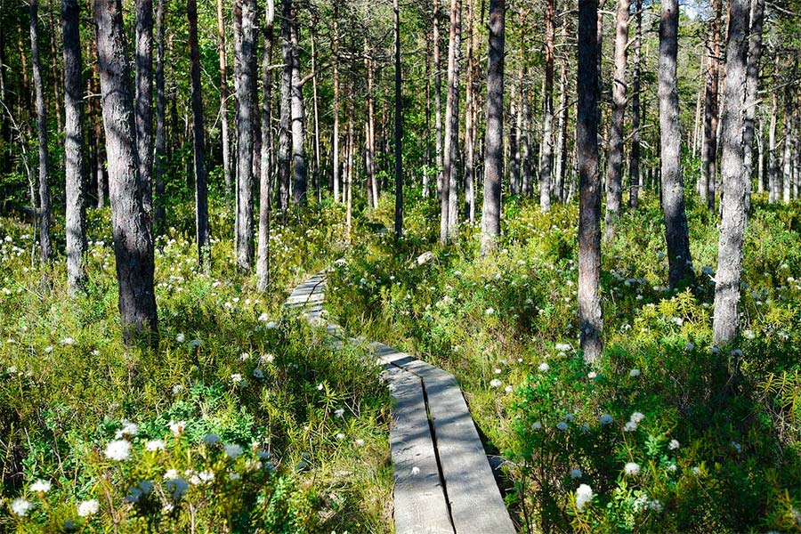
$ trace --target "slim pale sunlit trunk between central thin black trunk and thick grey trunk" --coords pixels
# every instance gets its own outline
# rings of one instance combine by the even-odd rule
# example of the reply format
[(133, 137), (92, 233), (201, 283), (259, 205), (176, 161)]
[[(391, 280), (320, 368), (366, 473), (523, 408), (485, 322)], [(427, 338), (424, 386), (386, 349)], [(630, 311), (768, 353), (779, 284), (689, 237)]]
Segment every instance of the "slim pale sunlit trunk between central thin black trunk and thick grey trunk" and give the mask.
[(445, 144), (442, 155), (442, 194), (440, 241), (453, 238), (457, 228), (458, 190), (458, 94), (459, 47), (461, 39), (461, 0), (450, 0), (450, 35), (448, 44), (448, 97), (445, 102)]

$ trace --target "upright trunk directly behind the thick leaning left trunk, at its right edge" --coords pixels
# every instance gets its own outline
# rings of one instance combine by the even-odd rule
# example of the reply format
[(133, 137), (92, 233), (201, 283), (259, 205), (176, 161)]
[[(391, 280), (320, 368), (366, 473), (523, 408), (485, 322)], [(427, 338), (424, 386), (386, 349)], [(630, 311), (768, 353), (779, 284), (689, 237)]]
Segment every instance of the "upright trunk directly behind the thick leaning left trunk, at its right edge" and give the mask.
[(136, 151), (142, 206), (153, 216), (153, 0), (136, 0)]

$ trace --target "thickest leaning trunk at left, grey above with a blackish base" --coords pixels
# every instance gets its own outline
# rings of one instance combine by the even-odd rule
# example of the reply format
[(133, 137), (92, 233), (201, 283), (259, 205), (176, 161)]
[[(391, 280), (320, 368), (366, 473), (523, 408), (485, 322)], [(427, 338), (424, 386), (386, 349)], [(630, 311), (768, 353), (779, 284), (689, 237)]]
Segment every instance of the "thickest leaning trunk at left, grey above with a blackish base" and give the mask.
[[(111, 225), (126, 344), (158, 333), (153, 242), (142, 207), (136, 156), (134, 94), (120, 0), (94, 0), (103, 123), (109, 160)], [(151, 337), (155, 344), (155, 337)]]

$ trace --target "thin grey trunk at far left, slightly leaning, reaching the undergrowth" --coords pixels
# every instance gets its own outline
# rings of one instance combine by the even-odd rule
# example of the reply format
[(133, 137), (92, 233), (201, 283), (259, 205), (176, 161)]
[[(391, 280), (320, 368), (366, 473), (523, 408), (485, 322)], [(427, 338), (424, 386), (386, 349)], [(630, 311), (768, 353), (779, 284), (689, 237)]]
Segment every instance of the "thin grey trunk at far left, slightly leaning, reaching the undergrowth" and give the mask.
[(39, 0), (30, 0), (30, 55), (33, 69), (34, 91), (36, 92), (36, 132), (39, 135), (39, 245), (42, 261), (48, 262), (53, 254), (50, 241), (50, 184), (49, 155), (47, 153), (47, 118), (44, 106), (44, 82), (39, 61), (39, 32), (37, 28)]

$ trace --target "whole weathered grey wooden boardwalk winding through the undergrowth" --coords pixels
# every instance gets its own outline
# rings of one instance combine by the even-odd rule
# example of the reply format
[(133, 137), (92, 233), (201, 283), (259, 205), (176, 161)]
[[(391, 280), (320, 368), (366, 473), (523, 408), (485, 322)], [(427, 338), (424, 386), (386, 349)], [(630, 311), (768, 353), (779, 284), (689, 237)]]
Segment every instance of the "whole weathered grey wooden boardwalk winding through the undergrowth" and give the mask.
[[(295, 287), (286, 305), (326, 325), (336, 343), (360, 344), (323, 319), (325, 288), (320, 272)], [(514, 534), (456, 378), (385, 344), (368, 348), (384, 364), (394, 400), (390, 444), (397, 534)]]

